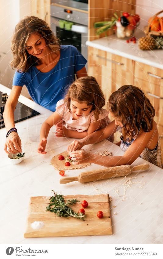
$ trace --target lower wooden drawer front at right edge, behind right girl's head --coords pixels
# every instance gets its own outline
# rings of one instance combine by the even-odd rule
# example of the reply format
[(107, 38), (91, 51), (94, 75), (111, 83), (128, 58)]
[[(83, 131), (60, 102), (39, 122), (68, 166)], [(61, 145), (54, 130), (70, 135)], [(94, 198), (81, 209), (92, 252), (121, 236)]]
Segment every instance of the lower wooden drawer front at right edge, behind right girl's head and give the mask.
[(150, 99), (156, 112), (154, 120), (157, 124), (163, 126), (163, 87), (139, 78), (135, 78), (135, 86), (141, 88), (147, 98)]

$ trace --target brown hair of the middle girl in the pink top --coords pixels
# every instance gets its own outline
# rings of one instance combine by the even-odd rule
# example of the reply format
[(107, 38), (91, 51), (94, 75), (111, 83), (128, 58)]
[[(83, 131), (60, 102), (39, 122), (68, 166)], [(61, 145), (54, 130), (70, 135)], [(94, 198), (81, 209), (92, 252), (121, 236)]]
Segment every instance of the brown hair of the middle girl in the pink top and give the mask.
[(68, 92), (64, 98), (64, 103), (70, 110), (70, 102), (75, 100), (77, 102), (87, 103), (92, 105), (96, 121), (99, 118), (100, 110), (105, 105), (105, 98), (100, 89), (95, 77), (80, 77), (71, 84)]

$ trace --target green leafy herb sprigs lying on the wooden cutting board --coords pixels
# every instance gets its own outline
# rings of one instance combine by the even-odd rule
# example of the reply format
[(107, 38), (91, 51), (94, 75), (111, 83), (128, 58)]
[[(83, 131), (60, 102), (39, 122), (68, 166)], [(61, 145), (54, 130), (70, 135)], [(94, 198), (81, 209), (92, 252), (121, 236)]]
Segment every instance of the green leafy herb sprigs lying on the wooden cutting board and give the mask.
[(67, 202), (65, 202), (62, 194), (54, 192), (54, 196), (50, 197), (49, 200), (50, 204), (46, 207), (46, 211), (49, 210), (54, 212), (58, 217), (74, 217), (84, 220), (84, 215), (82, 213), (74, 212), (74, 210), (69, 207), (70, 205), (77, 203), (77, 199), (67, 200)]

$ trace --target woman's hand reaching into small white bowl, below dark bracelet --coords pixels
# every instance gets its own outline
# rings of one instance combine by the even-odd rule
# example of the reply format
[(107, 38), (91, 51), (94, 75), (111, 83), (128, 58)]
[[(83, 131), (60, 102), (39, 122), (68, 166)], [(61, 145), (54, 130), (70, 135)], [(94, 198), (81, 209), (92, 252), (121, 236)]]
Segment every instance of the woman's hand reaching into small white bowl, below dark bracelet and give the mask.
[(21, 139), (19, 135), (13, 131), (9, 134), (8, 138), (6, 139), (4, 150), (7, 154), (9, 153), (21, 153)]

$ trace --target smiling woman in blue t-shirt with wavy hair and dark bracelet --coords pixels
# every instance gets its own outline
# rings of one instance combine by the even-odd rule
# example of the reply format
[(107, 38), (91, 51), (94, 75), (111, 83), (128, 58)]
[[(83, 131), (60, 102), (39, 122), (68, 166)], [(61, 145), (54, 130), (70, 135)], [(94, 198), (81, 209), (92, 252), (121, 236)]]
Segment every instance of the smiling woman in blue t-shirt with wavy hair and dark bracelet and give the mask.
[(34, 102), (55, 111), (65, 89), (76, 77), (87, 76), (87, 60), (72, 45), (60, 45), (47, 23), (27, 16), (15, 28), (12, 40), (12, 68), (16, 69), (13, 88), (3, 113), (7, 140), (6, 153), (21, 152), (21, 140), (14, 124), (14, 110), (25, 85)]

